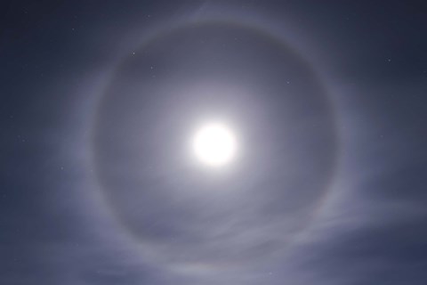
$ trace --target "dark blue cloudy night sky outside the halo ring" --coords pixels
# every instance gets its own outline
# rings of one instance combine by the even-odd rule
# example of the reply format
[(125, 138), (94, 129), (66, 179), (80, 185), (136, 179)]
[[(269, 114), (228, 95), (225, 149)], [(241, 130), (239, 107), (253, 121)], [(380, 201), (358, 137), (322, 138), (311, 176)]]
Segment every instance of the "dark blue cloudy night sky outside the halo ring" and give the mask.
[[(119, 58), (141, 48), (141, 41), (130, 37), (210, 13), (271, 20), (285, 42), (313, 65), (334, 99), (340, 161), (323, 207), (283, 255), (234, 270), (227, 270), (223, 259), (215, 271), (196, 265), (171, 269), (147, 255), (100, 198), (93, 178), (97, 169), (89, 158), (89, 126), (109, 71)], [(427, 281), (423, 2), (19, 1), (6, 4), (3, 15), (2, 283)], [(161, 53), (157, 57), (166, 59)], [(310, 117), (308, 109), (302, 110)], [(166, 223), (166, 232), (177, 224)]]

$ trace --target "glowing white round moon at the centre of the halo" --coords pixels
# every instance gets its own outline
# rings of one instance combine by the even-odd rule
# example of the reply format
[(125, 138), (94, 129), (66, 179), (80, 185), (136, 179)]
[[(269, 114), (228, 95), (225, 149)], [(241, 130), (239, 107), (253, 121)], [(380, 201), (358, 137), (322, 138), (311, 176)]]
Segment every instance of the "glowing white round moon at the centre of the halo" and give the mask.
[(236, 155), (237, 142), (230, 129), (221, 123), (202, 126), (193, 139), (197, 159), (210, 167), (222, 167)]

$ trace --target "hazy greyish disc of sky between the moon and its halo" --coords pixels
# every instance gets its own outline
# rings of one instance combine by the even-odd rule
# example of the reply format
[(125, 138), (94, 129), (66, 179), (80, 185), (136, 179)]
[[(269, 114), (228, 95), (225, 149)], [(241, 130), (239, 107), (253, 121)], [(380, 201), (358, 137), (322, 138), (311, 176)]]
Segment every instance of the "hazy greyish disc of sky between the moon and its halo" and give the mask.
[[(157, 100), (157, 97), (153, 95), (147, 100), (147, 97), (141, 96), (141, 92), (137, 94), (134, 92), (134, 87), (141, 86), (141, 81), (137, 82), (138, 79), (144, 78), (142, 89), (146, 94), (150, 92), (171, 94), (170, 90), (165, 88), (165, 82), (162, 84), (159, 81), (159, 77), (165, 77), (169, 85), (174, 85), (174, 92), (178, 89), (181, 94), (185, 94), (189, 90), (182, 84), (182, 79), (185, 79), (180, 73), (182, 70), (174, 70), (173, 72), (162, 70), (161, 76), (155, 78), (146, 69), (142, 68), (149, 67), (151, 70), (154, 69), (153, 66), (149, 66), (149, 57), (144, 58), (141, 56), (135, 59), (134, 56), (130, 56), (117, 67), (109, 88), (101, 98), (93, 128), (93, 152), (96, 171), (104, 196), (109, 201), (110, 207), (116, 213), (120, 223), (125, 226), (125, 229), (131, 233), (133, 239), (144, 248), (146, 253), (151, 253), (152, 257), (166, 261), (175, 268), (176, 266), (185, 267), (187, 265), (191, 267), (194, 263), (210, 268), (217, 268), (217, 265), (222, 264), (222, 262), (227, 262), (229, 265), (243, 265), (254, 263), (255, 260), (260, 261), (262, 256), (269, 256), (273, 252), (281, 251), (286, 248), (286, 244), (292, 240), (292, 237), (297, 232), (301, 232), (310, 221), (310, 214), (318, 208), (319, 202), (326, 197), (328, 185), (334, 174), (337, 139), (332, 104), (329, 102), (325, 90), (318, 82), (318, 78), (314, 75), (310, 65), (278, 38), (272, 37), (257, 28), (240, 26), (236, 23), (197, 23), (174, 28), (163, 35), (153, 37), (141, 47), (141, 53), (139, 54), (151, 53), (150, 56), (155, 58), (160, 58), (161, 53), (171, 53), (170, 55), (172, 55), (172, 50), (168, 52), (167, 49), (173, 46), (171, 44), (180, 39), (182, 35), (189, 36), (188, 33), (195, 31), (200, 36), (200, 31), (207, 30), (207, 33), (210, 33), (211, 36), (218, 36), (218, 29), (227, 30), (226, 33), (229, 36), (233, 32), (241, 33), (240, 36), (243, 35), (243, 39), (252, 42), (254, 45), (260, 45), (256, 46), (256, 48), (266, 48), (268, 50), (268, 47), (262, 46), (267, 43), (266, 45), (271, 45), (272, 50), (278, 53), (278, 58), (270, 59), (267, 57), (260, 65), (260, 62), (256, 60), (253, 54), (235, 53), (234, 55), (237, 57), (243, 55), (251, 60), (252, 69), (249, 70), (253, 72), (249, 73), (249, 76), (245, 77), (245, 74), (242, 73), (243, 76), (238, 74), (233, 78), (234, 80), (228, 80), (229, 78), (224, 79), (222, 76), (222, 70), (215, 69), (214, 74), (211, 75), (214, 75), (217, 79), (219, 78), (220, 84), (218, 82), (206, 83), (204, 81), (205, 78), (199, 77), (197, 72), (186, 69), (189, 72), (188, 76), (203, 81), (199, 85), (192, 85), (189, 97), (177, 96), (174, 98), (169, 95), (169, 97), (166, 96), (167, 100), (163, 100), (165, 98)], [(257, 38), (257, 40), (254, 41), (254, 38), (251, 39), (251, 37)], [(229, 37), (227, 40), (230, 39)], [(205, 44), (203, 39), (197, 38), (197, 41), (199, 42), (194, 44)], [(215, 45), (215, 43), (209, 44)], [(221, 40), (219, 44), (224, 45)], [(247, 43), (245, 43), (246, 45)], [(200, 45), (197, 46), (200, 47)], [(194, 46), (195, 50), (197, 46)], [(175, 46), (173, 53), (188, 53), (188, 51), (180, 48), (181, 45)], [(204, 49), (202, 51), (205, 52)], [(173, 55), (176, 56), (176, 54)], [(190, 60), (189, 66), (196, 64), (201, 55), (193, 54), (193, 56), (196, 60)], [(178, 59), (179, 57), (175, 58)], [(173, 61), (172, 58), (168, 58), (168, 60)], [(207, 61), (206, 59), (203, 60), (202, 69), (206, 67), (205, 63), (216, 64), (215, 61), (218, 59), (214, 58), (212, 61), (209, 59)], [(232, 65), (232, 59), (230, 58), (229, 60), (230, 62), (227, 62), (226, 65), (229, 64), (228, 67), (232, 72), (246, 70), (246, 66), (236, 68), (236, 66)], [(286, 66), (284, 62), (287, 63)], [(215, 65), (215, 67), (218, 66)], [(262, 71), (267, 73), (271, 72), (269, 69), (272, 68), (276, 72), (287, 71), (289, 74), (287, 74), (287, 78), (284, 78), (283, 74), (276, 73), (273, 78), (269, 79), (266, 78), (269, 74), (262, 74), (262, 71), (259, 70), (254, 72), (254, 67), (261, 68)], [(205, 74), (206, 70), (203, 69), (201, 73)], [(262, 78), (253, 77), (253, 73), (256, 73), (257, 76), (262, 74)], [(135, 75), (138, 76), (135, 77)], [(302, 76), (306, 76), (308, 79), (304, 80)], [(271, 90), (260, 88), (262, 90), (256, 90), (258, 93), (254, 93), (254, 90), (251, 90), (251, 87), (254, 87), (254, 82), (251, 79), (254, 81), (265, 79), (265, 81), (281, 87), (289, 85), (289, 88), (284, 88), (286, 92), (283, 93), (283, 98), (280, 96), (275, 97), (276, 102), (271, 103), (270, 106), (259, 106), (260, 104), (262, 105), (260, 100), (265, 99), (265, 96), (271, 96), (271, 94), (262, 94), (260, 91), (267, 91), (268, 93)], [(285, 79), (289, 79), (289, 81)], [(189, 83), (188, 80), (183, 81), (187, 84)], [(238, 84), (242, 82), (248, 82), (249, 84), (247, 88), (244, 88), (246, 90), (242, 92), (236, 85), (232, 85), (232, 81), (236, 81)], [(129, 88), (129, 83), (131, 83), (133, 90)], [(200, 93), (201, 87), (202, 89), (204, 88), (205, 93)], [(219, 97), (225, 103), (219, 103), (218, 98), (214, 98), (213, 94), (206, 92), (206, 89), (215, 88), (215, 91), (218, 91), (218, 88), (222, 91), (220, 93), (222, 95)], [(242, 95), (248, 90), (253, 92), (247, 93), (250, 94), (248, 96)], [(302, 98), (295, 95), (298, 91), (302, 92)], [(126, 94), (125, 98), (123, 96), (120, 98), (124, 99), (123, 102), (117, 101), (118, 94)], [(203, 95), (201, 98), (197, 98), (194, 94)], [(214, 92), (214, 94), (218, 93)], [(205, 105), (201, 103), (201, 99), (206, 101)], [(144, 102), (144, 100), (148, 102)], [(140, 104), (134, 104), (134, 102), (139, 102)], [(224, 178), (225, 180), (218, 182), (210, 180), (209, 177), (200, 177), (198, 174), (191, 173), (185, 163), (182, 163), (182, 158), (171, 155), (168, 151), (163, 154), (159, 154), (158, 151), (151, 152), (156, 147), (168, 146), (170, 148), (170, 141), (165, 138), (167, 132), (164, 133), (163, 130), (172, 130), (172, 133), (169, 132), (169, 134), (172, 134), (176, 139), (178, 133), (182, 134), (184, 126), (189, 126), (189, 121), (186, 119), (174, 120), (174, 118), (177, 118), (176, 114), (186, 114), (189, 111), (185, 108), (176, 110), (176, 112), (171, 111), (170, 106), (179, 105), (178, 102), (187, 103), (197, 110), (199, 110), (199, 105), (202, 105), (201, 109), (208, 114), (212, 113), (212, 110), (216, 110), (218, 113), (225, 113), (226, 115), (232, 114), (233, 110), (239, 110), (238, 108), (241, 107), (242, 103), (248, 104), (252, 110), (256, 110), (256, 114), (243, 110), (237, 117), (238, 122), (244, 125), (243, 133), (245, 139), (257, 140), (252, 147), (254, 147), (254, 150), (259, 151), (258, 156), (254, 155), (250, 159), (246, 158), (242, 169), (239, 169), (232, 177), (226, 177)], [(292, 106), (286, 106), (286, 103), (291, 103)], [(138, 106), (143, 106), (143, 110), (138, 110)], [(127, 107), (127, 112), (123, 112), (123, 107)], [(124, 134), (125, 138), (130, 138), (134, 134), (133, 132), (128, 132), (123, 126), (133, 126), (134, 130), (136, 129), (134, 117), (141, 119), (141, 121), (152, 121), (152, 119), (155, 119), (154, 114), (158, 114), (157, 111), (159, 110), (168, 110), (171, 118), (156, 121), (157, 128), (144, 130), (141, 127), (142, 134), (138, 138), (133, 138), (133, 140), (129, 141), (123, 140), (121, 134)], [(303, 118), (297, 119), (301, 115), (298, 114), (298, 111), (302, 111), (302, 115), (312, 112), (312, 118), (306, 120)], [(200, 113), (202, 112), (191, 113), (188, 119), (194, 121), (194, 119), (200, 118)], [(117, 118), (119, 118), (118, 121)], [(271, 122), (281, 124), (292, 120), (294, 120), (295, 126), (285, 123), (276, 130), (268, 126)], [(144, 131), (149, 131), (152, 135), (146, 135)], [(312, 133), (309, 134), (308, 131)], [(288, 137), (284, 138), (284, 134)], [(156, 140), (147, 139), (149, 137), (156, 138)], [(266, 143), (269, 138), (274, 142)], [(320, 144), (323, 149), (310, 158), (310, 155), (313, 155), (313, 152), (310, 151), (313, 144)], [(135, 145), (143, 149), (143, 151), (140, 149), (140, 153), (136, 157), (134, 154), (136, 153), (135, 150), (138, 149)], [(284, 163), (278, 159), (277, 155), (281, 153), (280, 151), (283, 151), (283, 148), (289, 146), (292, 146), (293, 149), (285, 153), (286, 163)], [(300, 159), (299, 162), (302, 165), (293, 166), (292, 164), (298, 159)], [(166, 161), (173, 161), (174, 167), (166, 167)], [(128, 164), (126, 167), (133, 170), (130, 173), (121, 173), (119, 169), (123, 167), (123, 164)], [(177, 165), (180, 167), (176, 167)], [(302, 169), (305, 169), (304, 171), (308, 171), (308, 173), (302, 172)], [(270, 171), (275, 171), (275, 174), (272, 175)], [(185, 177), (189, 176), (191, 176), (191, 179), (185, 179)], [(307, 176), (312, 177), (307, 179)], [(269, 181), (276, 182), (278, 185), (280, 181), (285, 183), (283, 188), (286, 191), (278, 189), (280, 187), (277, 186), (267, 186)], [(123, 193), (124, 182), (131, 185), (125, 189), (125, 193)], [(145, 186), (148, 186), (148, 182), (151, 183), (151, 186), (145, 188)], [(194, 187), (215, 189), (223, 188), (225, 185), (236, 190), (228, 198), (224, 198), (222, 194), (212, 195), (217, 191), (209, 191), (211, 195), (206, 197), (199, 196), (197, 194), (199, 191), (191, 191)], [(313, 187), (313, 185), (316, 185), (316, 187)], [(159, 189), (161, 191), (158, 192)], [(295, 194), (295, 189), (300, 190), (300, 192), (296, 191), (297, 194)], [(293, 195), (290, 195), (289, 191), (291, 190), (294, 191)], [(260, 194), (261, 192), (265, 194), (266, 191), (270, 196), (266, 197)], [(202, 192), (205, 193), (205, 191)], [(180, 195), (182, 195), (181, 198)], [(244, 197), (241, 195), (254, 195), (254, 199), (245, 200), (242, 203), (242, 201), (238, 201), (239, 197)], [(310, 199), (304, 200), (304, 195), (310, 196)], [(182, 199), (183, 201), (177, 205), (175, 203), (176, 199)], [(224, 199), (228, 199), (225, 204)], [(259, 201), (258, 204), (255, 202), (257, 200)], [(160, 205), (161, 207), (155, 206), (156, 203), (159, 203), (157, 206)], [(213, 205), (213, 207), (205, 207), (207, 205), (205, 203)], [(150, 207), (150, 204), (154, 208)], [(220, 207), (220, 205), (222, 205), (222, 210), (215, 211), (214, 207)], [(236, 209), (240, 213), (237, 213)], [(268, 209), (269, 215), (259, 216), (259, 221), (251, 224), (248, 218), (258, 214), (262, 215), (262, 211), (266, 209)], [(156, 216), (156, 213), (161, 213), (164, 216)], [(197, 214), (202, 215), (197, 216)], [(295, 217), (294, 222), (289, 222), (289, 216)], [(296, 218), (296, 216), (298, 217)], [(173, 223), (168, 224), (168, 219), (172, 220)], [(219, 226), (210, 228), (209, 226), (201, 225), (206, 224), (206, 219), (214, 219), (215, 222), (219, 221), (221, 223), (228, 220), (228, 222), (225, 224), (220, 223)], [(184, 224), (190, 224), (190, 226)], [(192, 228), (193, 224), (195, 228)], [(235, 229), (240, 227), (239, 224), (246, 224), (248, 229), (245, 233), (251, 235), (243, 243), (238, 240), (242, 233), (234, 232)], [(224, 241), (225, 244), (223, 247), (218, 245), (220, 241), (216, 239), (222, 228), (231, 229), (229, 232), (223, 232), (224, 236), (220, 236), (219, 240)], [(264, 235), (260, 236), (261, 232)], [(285, 235), (281, 236), (284, 232)], [(215, 235), (216, 240), (209, 237), (211, 234)], [(173, 237), (173, 240), (170, 239), (171, 237)], [(187, 239), (192, 240), (191, 244), (187, 243)], [(183, 250), (186, 252), (184, 256)]]

